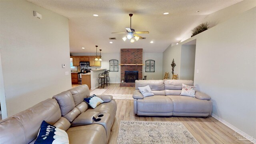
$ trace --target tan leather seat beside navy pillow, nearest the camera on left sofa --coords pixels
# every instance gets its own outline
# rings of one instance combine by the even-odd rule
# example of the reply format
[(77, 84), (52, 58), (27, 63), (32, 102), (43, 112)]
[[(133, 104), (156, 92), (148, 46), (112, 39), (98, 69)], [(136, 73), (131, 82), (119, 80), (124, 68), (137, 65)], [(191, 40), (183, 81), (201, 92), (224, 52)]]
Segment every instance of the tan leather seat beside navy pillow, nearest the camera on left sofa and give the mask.
[(70, 144), (106, 144), (107, 140), (106, 130), (100, 124), (75, 126), (66, 132)]

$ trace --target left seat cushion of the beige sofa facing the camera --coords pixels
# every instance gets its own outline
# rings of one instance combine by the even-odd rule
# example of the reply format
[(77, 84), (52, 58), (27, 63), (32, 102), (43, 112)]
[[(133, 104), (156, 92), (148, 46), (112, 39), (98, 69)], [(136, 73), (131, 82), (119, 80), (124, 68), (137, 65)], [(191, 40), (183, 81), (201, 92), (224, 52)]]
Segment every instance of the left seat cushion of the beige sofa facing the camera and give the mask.
[(137, 110), (140, 112), (172, 112), (173, 103), (166, 96), (148, 96), (137, 100)]

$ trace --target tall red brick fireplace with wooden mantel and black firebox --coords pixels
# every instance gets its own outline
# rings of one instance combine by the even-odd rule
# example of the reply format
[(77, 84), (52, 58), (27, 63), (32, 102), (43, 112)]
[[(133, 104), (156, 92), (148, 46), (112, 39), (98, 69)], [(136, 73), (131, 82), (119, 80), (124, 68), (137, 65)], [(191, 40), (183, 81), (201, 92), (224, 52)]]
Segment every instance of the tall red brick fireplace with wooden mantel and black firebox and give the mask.
[[(133, 78), (142, 80), (142, 48), (125, 48), (121, 49), (121, 80), (124, 79), (124, 83), (120, 83), (120, 86), (135, 86)], [(126, 74), (125, 74), (126, 72)], [(127, 72), (128, 75), (127, 75)], [(138, 76), (131, 72), (138, 72)], [(128, 77), (130, 76), (130, 77)]]

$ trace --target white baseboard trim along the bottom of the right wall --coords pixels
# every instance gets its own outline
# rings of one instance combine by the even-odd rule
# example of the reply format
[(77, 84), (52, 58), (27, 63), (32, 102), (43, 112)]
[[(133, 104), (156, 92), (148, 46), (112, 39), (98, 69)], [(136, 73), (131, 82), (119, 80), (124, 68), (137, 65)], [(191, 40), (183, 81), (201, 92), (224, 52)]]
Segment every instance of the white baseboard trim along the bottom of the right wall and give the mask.
[[(233, 126), (232, 124), (226, 122), (225, 120), (223, 120), (222, 118), (216, 116), (215, 114), (212, 114), (212, 117), (215, 118), (216, 120), (220, 121), (222, 124), (225, 124), (226, 126), (228, 126), (229, 128), (231, 128), (232, 130), (235, 131), (234, 134), (236, 134), (236, 132), (238, 134), (240, 134), (241, 136), (243, 136), (244, 138), (246, 138), (247, 140), (250, 140), (250, 142), (252, 142), (253, 144), (256, 144), (256, 139), (253, 138), (252, 136), (249, 136), (248, 134), (246, 134), (245, 132), (243, 132), (242, 130), (239, 130), (238, 128), (236, 128), (235, 126)], [(238, 141), (242, 141), (239, 140), (239, 137), (237, 137)]]

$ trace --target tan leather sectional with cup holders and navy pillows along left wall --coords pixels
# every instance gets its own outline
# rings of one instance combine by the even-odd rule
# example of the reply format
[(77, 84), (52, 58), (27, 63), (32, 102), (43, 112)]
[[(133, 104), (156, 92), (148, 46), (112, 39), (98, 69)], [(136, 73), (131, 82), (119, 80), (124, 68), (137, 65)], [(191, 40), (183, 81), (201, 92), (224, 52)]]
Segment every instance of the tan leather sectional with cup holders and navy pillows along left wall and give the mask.
[[(95, 109), (84, 102), (90, 96), (87, 85), (72, 88), (27, 110), (0, 121), (1, 144), (34, 144), (43, 120), (68, 134), (70, 144), (106, 144), (116, 116), (112, 96), (98, 96), (104, 103)], [(99, 122), (98, 118), (103, 114)]]

